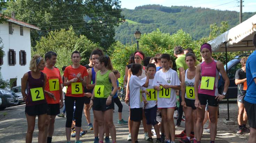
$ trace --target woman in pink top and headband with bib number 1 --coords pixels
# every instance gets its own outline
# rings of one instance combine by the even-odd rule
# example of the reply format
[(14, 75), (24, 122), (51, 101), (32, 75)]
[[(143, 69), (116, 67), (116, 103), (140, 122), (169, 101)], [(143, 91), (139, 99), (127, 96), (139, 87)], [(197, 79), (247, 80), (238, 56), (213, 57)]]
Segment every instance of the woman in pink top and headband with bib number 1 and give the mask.
[[(204, 58), (204, 62), (196, 66), (195, 75), (195, 107), (197, 108), (197, 121), (196, 121), (196, 135), (197, 143), (201, 142), (203, 133), (203, 120), (205, 105), (208, 100), (208, 112), (211, 121), (210, 126), (210, 143), (214, 143), (217, 133), (217, 111), (218, 102), (226, 96), (226, 92), (229, 85), (229, 79), (225, 72), (224, 66), (221, 62), (213, 60), (211, 58), (211, 45), (204, 43), (201, 46), (201, 54)], [(218, 94), (218, 77), (219, 72), (222, 74), (225, 80), (225, 85), (222, 95)], [(201, 80), (200, 80), (201, 79)], [(201, 82), (200, 82), (201, 81)], [(200, 84), (199, 84), (200, 83)]]

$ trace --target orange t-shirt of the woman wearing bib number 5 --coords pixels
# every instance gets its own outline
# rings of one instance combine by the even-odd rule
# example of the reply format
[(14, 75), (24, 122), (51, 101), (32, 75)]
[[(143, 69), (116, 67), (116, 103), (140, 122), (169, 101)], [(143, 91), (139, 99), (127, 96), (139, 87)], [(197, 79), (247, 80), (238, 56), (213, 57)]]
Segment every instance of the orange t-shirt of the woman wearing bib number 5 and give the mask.
[[(68, 66), (64, 71), (64, 77), (71, 80), (76, 77), (78, 73), (81, 73), (81, 77), (84, 78), (88, 75), (87, 69), (80, 65), (77, 69), (74, 69), (71, 65)], [(81, 81), (78, 79), (77, 82), (71, 83), (68, 86), (66, 96), (72, 97), (83, 97), (84, 96), (84, 87)]]

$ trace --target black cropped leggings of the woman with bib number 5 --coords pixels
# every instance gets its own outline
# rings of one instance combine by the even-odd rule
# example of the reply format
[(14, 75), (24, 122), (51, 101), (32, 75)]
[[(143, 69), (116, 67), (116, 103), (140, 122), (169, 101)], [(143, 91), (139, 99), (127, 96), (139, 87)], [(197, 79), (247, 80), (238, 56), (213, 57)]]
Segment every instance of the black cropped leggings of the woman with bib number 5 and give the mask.
[(74, 102), (76, 101), (76, 109), (75, 109), (75, 119), (76, 126), (81, 127), (82, 125), (82, 113), (84, 109), (84, 97), (71, 97), (66, 96), (65, 98), (65, 106), (67, 112), (67, 120), (66, 127), (71, 128), (72, 120), (73, 120), (73, 112), (74, 112)]

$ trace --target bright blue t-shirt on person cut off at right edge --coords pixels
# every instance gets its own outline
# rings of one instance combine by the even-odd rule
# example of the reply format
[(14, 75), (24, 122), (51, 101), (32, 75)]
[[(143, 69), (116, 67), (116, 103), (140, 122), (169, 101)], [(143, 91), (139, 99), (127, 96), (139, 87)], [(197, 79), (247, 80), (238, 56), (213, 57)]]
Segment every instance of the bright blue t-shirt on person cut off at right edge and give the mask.
[(256, 84), (254, 78), (256, 78), (256, 50), (251, 53), (246, 61), (246, 78), (247, 78), (247, 91), (245, 95), (245, 101), (256, 104)]

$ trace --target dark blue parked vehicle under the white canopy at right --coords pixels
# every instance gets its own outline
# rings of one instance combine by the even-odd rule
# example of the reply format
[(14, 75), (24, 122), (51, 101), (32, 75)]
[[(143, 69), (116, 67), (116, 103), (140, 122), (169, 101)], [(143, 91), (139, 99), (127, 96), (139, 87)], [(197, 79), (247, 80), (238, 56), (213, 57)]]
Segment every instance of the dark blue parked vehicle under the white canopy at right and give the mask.
[[(228, 86), (228, 98), (235, 99), (237, 98), (237, 85), (235, 84), (235, 72), (236, 70), (241, 68), (240, 60), (242, 57), (249, 56), (251, 53), (242, 53), (236, 55), (231, 61), (227, 63), (227, 76), (229, 79)], [(224, 65), (224, 69), (226, 70), (226, 65)], [(220, 76), (220, 81), (223, 81), (222, 76)], [(221, 85), (220, 85), (221, 86)], [(222, 88), (224, 87), (224, 83)], [(219, 93), (222, 93), (220, 91)]]

